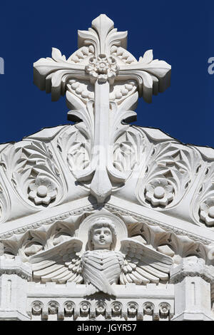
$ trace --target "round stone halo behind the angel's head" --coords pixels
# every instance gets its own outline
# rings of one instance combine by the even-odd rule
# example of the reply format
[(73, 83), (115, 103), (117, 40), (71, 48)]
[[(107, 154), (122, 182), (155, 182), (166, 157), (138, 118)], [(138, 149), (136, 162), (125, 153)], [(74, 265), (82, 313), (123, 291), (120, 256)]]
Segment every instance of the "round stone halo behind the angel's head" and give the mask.
[[(121, 239), (126, 239), (128, 236), (125, 223), (116, 215), (106, 212), (99, 212), (98, 214), (90, 215), (79, 226), (76, 237), (83, 242), (83, 249), (92, 250), (91, 246), (91, 232), (96, 229), (96, 226), (109, 227), (113, 237), (111, 249), (120, 249)], [(87, 243), (88, 242), (88, 243)]]

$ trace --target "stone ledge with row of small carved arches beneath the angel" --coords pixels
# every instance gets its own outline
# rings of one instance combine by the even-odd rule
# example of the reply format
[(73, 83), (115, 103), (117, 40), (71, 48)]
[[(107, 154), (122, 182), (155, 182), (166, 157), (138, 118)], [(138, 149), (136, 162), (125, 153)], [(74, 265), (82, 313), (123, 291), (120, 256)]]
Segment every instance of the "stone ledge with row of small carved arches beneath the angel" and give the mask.
[[(54, 283), (53, 283), (54, 284)], [(28, 314), (32, 320), (170, 320), (173, 317), (173, 290), (153, 288), (155, 298), (151, 299), (144, 297), (141, 294), (141, 299), (133, 297), (128, 299), (118, 294), (118, 297), (112, 299), (104, 299), (93, 297), (93, 299), (84, 299), (81, 297), (82, 290), (79, 289), (79, 297), (56, 298), (51, 297), (54, 287), (49, 287), (49, 297), (44, 297), (43, 294), (38, 294), (37, 290), (31, 285), (31, 290), (28, 296)], [(126, 287), (126, 290), (128, 287)], [(128, 289), (130, 290), (131, 287)], [(44, 287), (42, 288), (42, 291)], [(63, 290), (66, 289), (63, 288)], [(149, 292), (152, 292), (152, 287), (148, 287)], [(41, 291), (41, 292), (42, 292)], [(34, 295), (34, 297), (31, 297)]]

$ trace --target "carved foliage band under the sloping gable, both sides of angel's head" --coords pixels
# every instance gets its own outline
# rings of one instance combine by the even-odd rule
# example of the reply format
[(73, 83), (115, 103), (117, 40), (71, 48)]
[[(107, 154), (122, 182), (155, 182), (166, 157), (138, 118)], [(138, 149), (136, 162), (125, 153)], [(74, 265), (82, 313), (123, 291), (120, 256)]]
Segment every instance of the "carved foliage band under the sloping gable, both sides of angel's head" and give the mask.
[[(93, 217), (93, 212), (96, 212), (96, 210), (93, 211), (91, 206), (91, 209), (87, 207), (82, 211), (76, 211), (76, 214), (71, 212), (70, 215), (53, 217), (47, 221), (38, 222), (38, 225), (35, 223), (29, 228), (16, 230), (14, 234), (8, 233), (5, 237), (1, 237), (1, 243), (4, 245), (4, 255), (7, 258), (14, 258), (19, 255), (23, 262), (29, 262), (29, 258), (34, 254), (52, 249), (58, 244), (67, 242), (72, 237), (78, 237), (78, 230), (82, 226), (83, 220), (86, 220), (85, 218), (89, 220), (90, 217)], [(145, 217), (136, 216), (123, 209), (106, 205), (103, 214), (111, 215), (111, 212), (113, 213), (111, 220), (121, 220), (120, 222), (126, 223), (125, 230), (127, 230), (128, 238), (172, 257), (175, 264), (180, 264), (183, 257), (193, 254), (203, 258), (206, 264), (213, 264), (214, 244), (211, 240), (187, 234), (185, 230), (173, 229), (168, 225), (159, 225), (158, 222), (155, 223), (153, 220), (147, 222)], [(84, 239), (84, 234), (81, 236), (82, 239)], [(118, 237), (118, 240), (120, 239), (123, 239), (123, 237)], [(118, 246), (116, 249), (119, 248)]]

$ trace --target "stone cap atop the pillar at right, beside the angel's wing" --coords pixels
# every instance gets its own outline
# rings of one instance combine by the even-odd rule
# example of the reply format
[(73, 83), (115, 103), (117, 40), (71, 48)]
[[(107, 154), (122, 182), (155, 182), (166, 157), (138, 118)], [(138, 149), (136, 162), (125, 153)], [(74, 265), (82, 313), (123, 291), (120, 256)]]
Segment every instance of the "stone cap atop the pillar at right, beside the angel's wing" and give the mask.
[(204, 259), (191, 256), (170, 270), (170, 283), (181, 282), (185, 277), (201, 277), (205, 282), (214, 283), (214, 267), (205, 265)]

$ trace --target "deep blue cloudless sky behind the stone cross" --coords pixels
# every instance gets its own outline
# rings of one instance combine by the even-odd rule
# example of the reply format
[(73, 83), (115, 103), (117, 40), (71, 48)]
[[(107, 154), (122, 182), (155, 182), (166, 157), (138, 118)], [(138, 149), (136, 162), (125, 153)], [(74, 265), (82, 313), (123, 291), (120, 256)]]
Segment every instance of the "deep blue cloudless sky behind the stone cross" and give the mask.
[(214, 147), (214, 6), (212, 1), (4, 1), (0, 13), (0, 143), (21, 140), (41, 128), (67, 124), (65, 98), (33, 84), (33, 63), (51, 56), (51, 47), (66, 57), (77, 48), (77, 30), (87, 30), (99, 14), (118, 31), (128, 30), (128, 51), (139, 58), (153, 48), (154, 58), (172, 66), (171, 86), (139, 100), (136, 124), (160, 128), (183, 143)]

